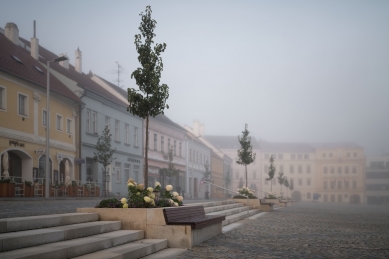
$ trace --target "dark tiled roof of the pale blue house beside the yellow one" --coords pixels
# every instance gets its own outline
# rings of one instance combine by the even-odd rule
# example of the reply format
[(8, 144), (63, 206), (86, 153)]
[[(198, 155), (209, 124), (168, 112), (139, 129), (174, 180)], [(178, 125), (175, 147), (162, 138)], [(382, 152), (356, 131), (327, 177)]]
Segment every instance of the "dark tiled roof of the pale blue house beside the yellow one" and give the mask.
[[(23, 43), (25, 43), (27, 46), (30, 46), (29, 41), (22, 39), (22, 38), (20, 38), (20, 40)], [(43, 48), (41, 45), (39, 45), (39, 56), (43, 57), (43, 58), (39, 58), (39, 61), (41, 61), (43, 63), (47, 62), (46, 60), (53, 60), (53, 59), (58, 57), (54, 53)], [(91, 90), (91, 91), (99, 94), (100, 96), (105, 97), (105, 98), (107, 98), (107, 99), (109, 99), (109, 100), (111, 100), (119, 105), (122, 105), (125, 107), (128, 105), (127, 103), (123, 102), (122, 100), (120, 100), (119, 98), (117, 98), (116, 96), (111, 94), (109, 91), (104, 89), (102, 86), (100, 86), (99, 84), (94, 82), (88, 75), (86, 75), (84, 73), (78, 73), (75, 70), (74, 66), (71, 64), (69, 64), (69, 69), (66, 69), (58, 63), (52, 63), (50, 65), (50, 69), (54, 69), (58, 73), (60, 73), (64, 76), (72, 79), (73, 81), (77, 82), (82, 87), (84, 87), (88, 90)]]

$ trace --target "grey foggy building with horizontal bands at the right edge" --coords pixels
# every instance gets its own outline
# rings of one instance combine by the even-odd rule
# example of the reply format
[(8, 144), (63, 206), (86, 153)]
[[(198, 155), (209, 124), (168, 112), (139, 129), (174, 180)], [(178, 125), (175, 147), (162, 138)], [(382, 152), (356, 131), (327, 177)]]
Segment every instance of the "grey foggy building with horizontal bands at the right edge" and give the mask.
[(367, 204), (389, 204), (389, 154), (366, 158)]

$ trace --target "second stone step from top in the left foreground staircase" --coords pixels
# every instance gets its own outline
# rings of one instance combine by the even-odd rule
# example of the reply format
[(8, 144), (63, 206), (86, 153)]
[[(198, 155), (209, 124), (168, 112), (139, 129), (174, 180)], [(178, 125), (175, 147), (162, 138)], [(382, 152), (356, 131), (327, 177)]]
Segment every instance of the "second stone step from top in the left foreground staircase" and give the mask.
[(120, 230), (120, 221), (94, 221), (0, 234), (0, 252)]

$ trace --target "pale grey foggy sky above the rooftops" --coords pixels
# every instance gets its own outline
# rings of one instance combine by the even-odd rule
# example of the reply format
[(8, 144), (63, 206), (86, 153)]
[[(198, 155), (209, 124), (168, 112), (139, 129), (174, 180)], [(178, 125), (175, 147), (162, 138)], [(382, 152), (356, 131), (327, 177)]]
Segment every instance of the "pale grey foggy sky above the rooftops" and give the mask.
[(166, 115), (208, 135), (275, 142), (355, 142), (389, 152), (388, 1), (15, 1), (14, 22), (56, 54), (83, 53), (83, 72), (136, 87), (134, 35), (151, 5), (156, 42), (167, 44)]

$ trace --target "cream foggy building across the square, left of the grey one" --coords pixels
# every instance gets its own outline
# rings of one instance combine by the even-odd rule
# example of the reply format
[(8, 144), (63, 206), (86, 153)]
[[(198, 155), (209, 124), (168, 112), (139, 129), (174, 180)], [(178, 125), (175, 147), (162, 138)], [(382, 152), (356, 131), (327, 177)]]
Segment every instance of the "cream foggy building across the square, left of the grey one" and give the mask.
[(312, 144), (320, 201), (365, 203), (365, 156), (355, 143)]

